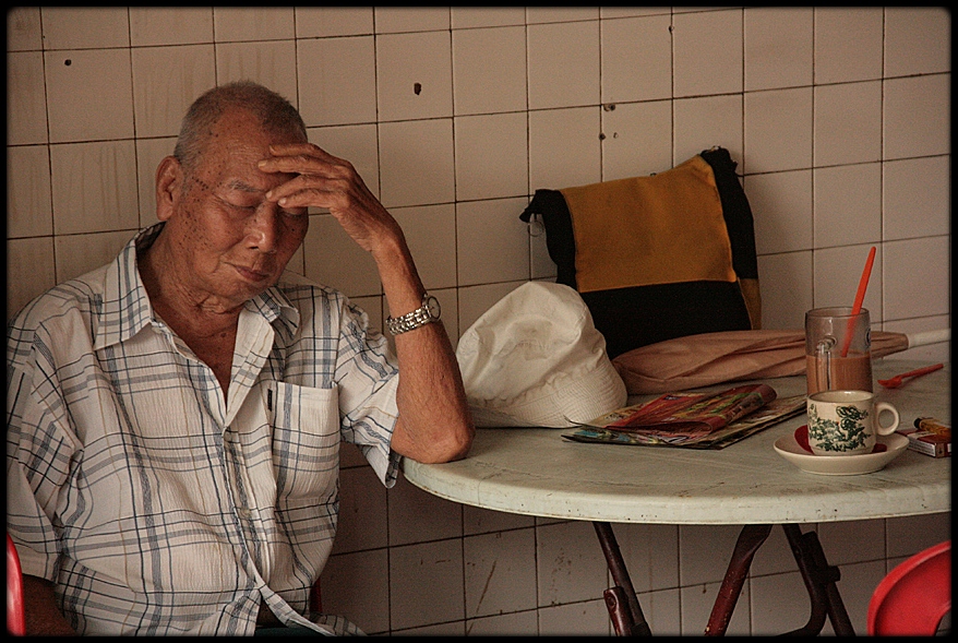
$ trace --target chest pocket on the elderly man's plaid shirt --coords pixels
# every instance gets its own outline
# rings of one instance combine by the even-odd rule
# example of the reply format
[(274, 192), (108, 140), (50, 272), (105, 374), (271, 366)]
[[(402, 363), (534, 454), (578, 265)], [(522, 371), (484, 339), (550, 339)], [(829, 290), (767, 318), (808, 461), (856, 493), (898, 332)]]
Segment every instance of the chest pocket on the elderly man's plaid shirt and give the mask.
[(267, 402), (280, 502), (335, 495), (339, 471), (338, 389), (277, 382)]

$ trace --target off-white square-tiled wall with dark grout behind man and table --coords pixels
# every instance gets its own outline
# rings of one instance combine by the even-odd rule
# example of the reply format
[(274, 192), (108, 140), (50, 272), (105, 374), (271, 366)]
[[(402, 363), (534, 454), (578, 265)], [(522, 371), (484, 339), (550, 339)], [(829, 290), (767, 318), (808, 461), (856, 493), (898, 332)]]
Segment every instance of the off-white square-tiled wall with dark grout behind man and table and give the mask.
[[(15, 9), (8, 318), (155, 221), (153, 172), (187, 106), (251, 78), (392, 210), (454, 337), (554, 276), (518, 221), (537, 188), (647, 175), (712, 145), (738, 160), (755, 214), (766, 328), (850, 303), (871, 246), (875, 328), (949, 328), (950, 25), (944, 9)], [(311, 223), (296, 270), (382, 320), (372, 262), (328, 215)], [(949, 519), (819, 525), (860, 632), (882, 575)], [(702, 633), (738, 528), (616, 529), (652, 631)], [(344, 455), (324, 602), (369, 633), (608, 634), (602, 570), (588, 524), (404, 480), (387, 492)], [(804, 624), (802, 592), (773, 532), (729, 632)]]

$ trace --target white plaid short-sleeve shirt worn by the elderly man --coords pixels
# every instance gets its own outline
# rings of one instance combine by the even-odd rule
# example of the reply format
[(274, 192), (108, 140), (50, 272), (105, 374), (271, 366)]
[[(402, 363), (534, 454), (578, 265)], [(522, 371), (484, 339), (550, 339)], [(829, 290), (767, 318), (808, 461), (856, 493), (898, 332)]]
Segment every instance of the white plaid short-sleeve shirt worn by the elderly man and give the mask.
[(228, 395), (117, 260), (7, 330), (7, 528), (82, 634), (251, 634), (309, 611), (333, 545), (340, 441), (386, 486), (398, 371), (340, 294), (289, 275), (240, 314)]

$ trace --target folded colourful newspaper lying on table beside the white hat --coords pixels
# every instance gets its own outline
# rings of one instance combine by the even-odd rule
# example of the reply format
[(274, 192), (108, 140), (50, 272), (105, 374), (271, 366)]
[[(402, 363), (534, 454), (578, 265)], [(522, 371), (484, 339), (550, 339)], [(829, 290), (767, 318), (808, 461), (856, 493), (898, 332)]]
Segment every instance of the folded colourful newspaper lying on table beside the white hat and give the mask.
[(562, 437), (575, 442), (723, 449), (804, 409), (804, 395), (779, 398), (768, 384), (719, 393), (667, 393), (607, 413)]

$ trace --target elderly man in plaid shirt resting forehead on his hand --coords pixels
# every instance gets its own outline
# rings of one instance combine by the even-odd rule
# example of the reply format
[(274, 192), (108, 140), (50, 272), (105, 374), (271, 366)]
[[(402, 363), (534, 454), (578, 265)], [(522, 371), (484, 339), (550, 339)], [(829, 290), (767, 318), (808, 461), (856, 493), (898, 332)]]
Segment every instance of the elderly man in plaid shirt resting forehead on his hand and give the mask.
[[(375, 260), (396, 355), (284, 272), (328, 209)], [(450, 340), (403, 231), (253, 83), (211, 90), (156, 172), (159, 223), (8, 325), (7, 526), (28, 633), (354, 633), (310, 614), (340, 441), (386, 486), (465, 456)], [(262, 630), (261, 630), (262, 631)]]

